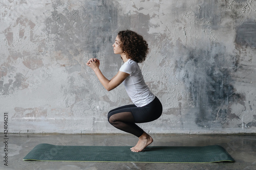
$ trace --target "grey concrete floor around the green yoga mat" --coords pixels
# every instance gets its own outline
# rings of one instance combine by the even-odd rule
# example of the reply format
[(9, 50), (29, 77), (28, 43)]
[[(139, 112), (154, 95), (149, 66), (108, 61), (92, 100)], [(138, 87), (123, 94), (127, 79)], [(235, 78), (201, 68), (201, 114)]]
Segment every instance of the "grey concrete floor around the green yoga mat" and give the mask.
[[(40, 162), (23, 161), (39, 143), (58, 145), (134, 145), (137, 138), (130, 134), (9, 134), (8, 166), (4, 165), (4, 144), (1, 142), (0, 169), (256, 169), (255, 135), (161, 135), (153, 134), (152, 146), (204, 146), (219, 144), (236, 162), (219, 163), (101, 163), (101, 162)], [(4, 135), (1, 134), (4, 139)]]

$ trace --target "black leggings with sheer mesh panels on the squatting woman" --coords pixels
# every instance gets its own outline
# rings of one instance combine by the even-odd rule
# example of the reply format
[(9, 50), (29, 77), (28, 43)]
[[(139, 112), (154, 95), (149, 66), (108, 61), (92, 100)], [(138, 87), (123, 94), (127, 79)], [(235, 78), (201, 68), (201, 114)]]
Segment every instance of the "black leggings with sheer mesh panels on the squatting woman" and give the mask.
[(146, 123), (156, 120), (161, 116), (162, 110), (162, 104), (156, 97), (154, 101), (143, 107), (127, 105), (113, 109), (108, 114), (108, 120), (117, 129), (140, 137), (144, 131), (135, 123)]

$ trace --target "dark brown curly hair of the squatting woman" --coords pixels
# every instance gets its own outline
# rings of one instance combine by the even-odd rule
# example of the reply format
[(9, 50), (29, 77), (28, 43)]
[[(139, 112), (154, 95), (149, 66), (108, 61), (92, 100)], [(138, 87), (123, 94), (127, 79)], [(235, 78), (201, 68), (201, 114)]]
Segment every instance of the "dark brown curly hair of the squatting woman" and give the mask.
[(131, 30), (120, 31), (117, 35), (121, 41), (120, 47), (129, 59), (138, 63), (146, 59), (148, 44), (141, 35)]

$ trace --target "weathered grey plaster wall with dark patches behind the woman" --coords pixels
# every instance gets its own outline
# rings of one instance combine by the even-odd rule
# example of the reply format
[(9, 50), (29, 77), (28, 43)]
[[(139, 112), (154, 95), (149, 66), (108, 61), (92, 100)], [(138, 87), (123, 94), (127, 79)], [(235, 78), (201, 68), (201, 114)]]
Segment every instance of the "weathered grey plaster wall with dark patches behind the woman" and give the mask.
[[(163, 115), (150, 133), (256, 132), (256, 2), (251, 0), (3, 0), (0, 118), (9, 133), (120, 133), (106, 114), (131, 104), (107, 92), (86, 66), (111, 79), (112, 44), (134, 30), (150, 53), (140, 64)], [(3, 127), (3, 126), (2, 126)]]

